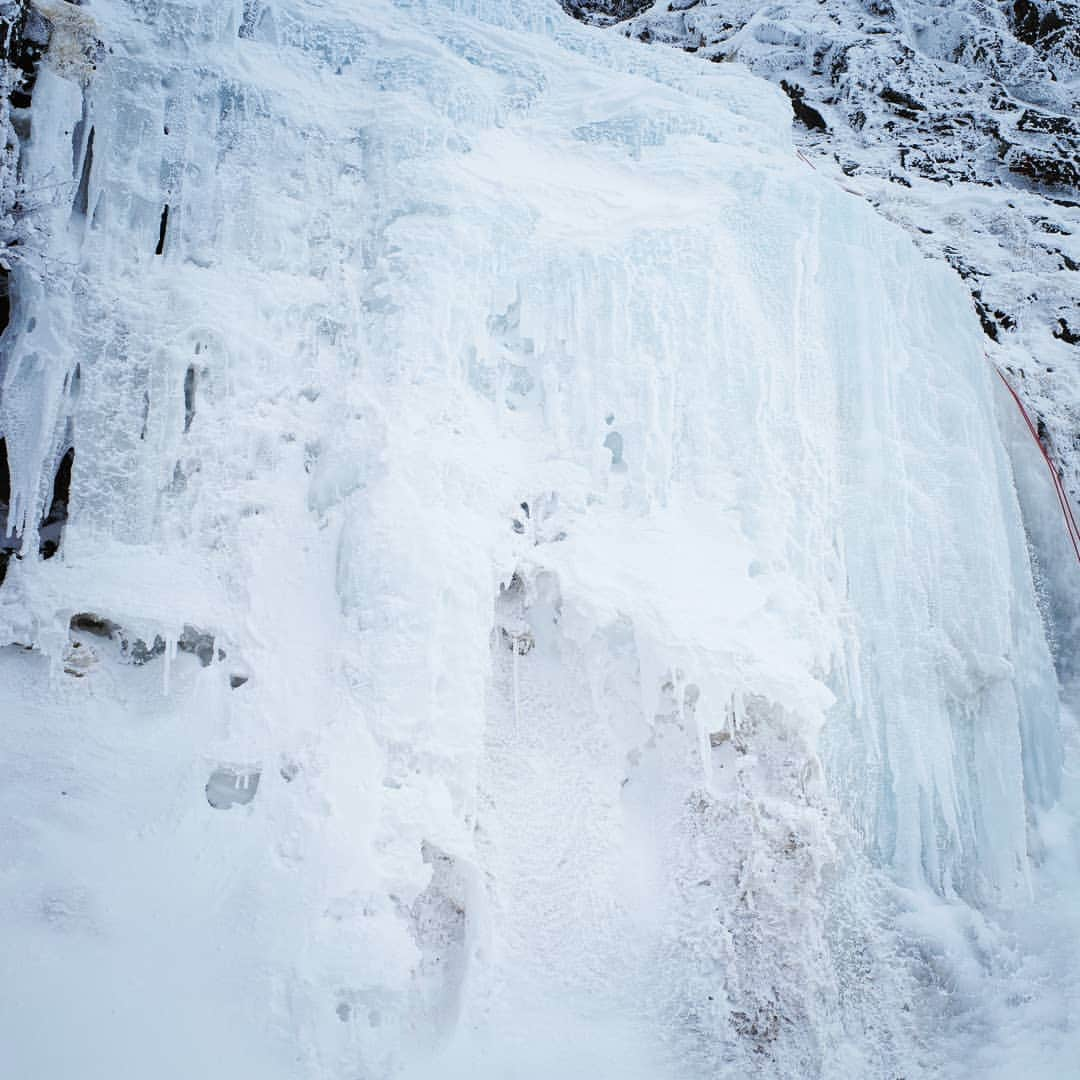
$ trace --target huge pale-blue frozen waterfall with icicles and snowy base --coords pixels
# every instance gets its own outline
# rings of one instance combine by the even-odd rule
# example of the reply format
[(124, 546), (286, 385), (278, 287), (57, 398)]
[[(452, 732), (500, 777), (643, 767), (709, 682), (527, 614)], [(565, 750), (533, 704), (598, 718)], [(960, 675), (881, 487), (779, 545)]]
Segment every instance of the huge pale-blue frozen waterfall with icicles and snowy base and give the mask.
[(1059, 1075), (1069, 553), (956, 275), (553, 0), (51, 17), (5, 1067)]

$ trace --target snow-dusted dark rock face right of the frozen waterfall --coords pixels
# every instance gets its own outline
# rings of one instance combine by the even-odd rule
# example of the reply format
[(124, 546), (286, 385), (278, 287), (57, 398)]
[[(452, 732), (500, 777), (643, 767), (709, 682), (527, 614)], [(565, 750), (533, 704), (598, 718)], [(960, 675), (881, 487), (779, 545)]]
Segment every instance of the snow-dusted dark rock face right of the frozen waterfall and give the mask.
[(1080, 349), (1059, 333), (1080, 321), (1080, 8), (675, 0), (622, 17), (611, 32), (744, 63), (787, 92), (811, 160), (967, 281), (988, 352), (1080, 497)]

